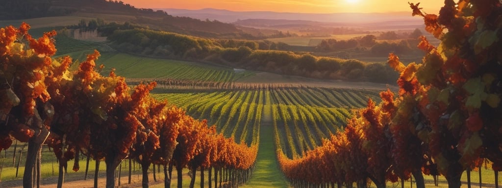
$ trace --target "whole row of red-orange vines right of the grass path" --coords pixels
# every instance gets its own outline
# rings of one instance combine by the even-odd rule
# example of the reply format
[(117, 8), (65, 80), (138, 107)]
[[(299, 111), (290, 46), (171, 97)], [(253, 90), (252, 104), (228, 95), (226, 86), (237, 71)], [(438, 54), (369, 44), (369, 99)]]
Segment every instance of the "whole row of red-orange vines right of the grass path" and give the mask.
[[(298, 187), (357, 182), (369, 178), (377, 187), (408, 179), (425, 187), (422, 173), (444, 175), (460, 187), (464, 170), (484, 159), (502, 170), (502, 5), (498, 0), (446, 0), (439, 15), (410, 3), (413, 16), (438, 47), (420, 37), (422, 63), (389, 65), (400, 73), (398, 96), (382, 92), (382, 103), (368, 106), (348, 121), (343, 132), (302, 158), (278, 150), (283, 171)], [(311, 174), (299, 174), (311, 169)], [(497, 177), (497, 176), (495, 176)], [(495, 178), (495, 183), (497, 179)]]

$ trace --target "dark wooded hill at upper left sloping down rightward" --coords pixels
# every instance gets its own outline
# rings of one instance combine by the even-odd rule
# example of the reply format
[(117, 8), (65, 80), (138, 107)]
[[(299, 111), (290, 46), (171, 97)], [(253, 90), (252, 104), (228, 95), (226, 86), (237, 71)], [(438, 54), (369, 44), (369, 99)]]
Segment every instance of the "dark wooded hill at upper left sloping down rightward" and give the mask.
[[(122, 1), (107, 0), (0, 0), (0, 20), (21, 20), (41, 17), (78, 16), (108, 18), (118, 22), (149, 27), (186, 35), (208, 38), (262, 39), (280, 34), (279, 31), (245, 28), (230, 23), (177, 17), (153, 9), (137, 9)], [(112, 15), (111, 17), (109, 15)], [(126, 16), (122, 17), (121, 16)], [(75, 25), (78, 23), (75, 23)]]

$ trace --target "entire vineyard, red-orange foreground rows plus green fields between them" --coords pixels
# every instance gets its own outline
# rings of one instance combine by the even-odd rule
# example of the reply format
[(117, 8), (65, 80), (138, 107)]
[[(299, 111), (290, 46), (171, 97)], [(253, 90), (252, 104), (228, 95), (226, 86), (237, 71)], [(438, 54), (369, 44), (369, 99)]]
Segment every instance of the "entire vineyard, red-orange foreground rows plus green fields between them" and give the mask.
[(2, 28), (0, 178), (6, 166), (8, 181), (31, 188), (58, 171), (59, 188), (68, 163), (78, 171), (86, 158), (84, 178), (94, 161), (94, 187), (100, 161), (101, 183), (111, 188), (129, 160), (142, 187), (163, 168), (166, 188), (404, 188), (405, 180), (497, 188), (502, 3), (447, 0), (439, 16), (409, 5), (441, 43), (421, 36), (421, 63), (389, 55), (396, 90), (238, 82), (257, 73), (119, 53), (56, 32), (34, 39), (25, 23)]

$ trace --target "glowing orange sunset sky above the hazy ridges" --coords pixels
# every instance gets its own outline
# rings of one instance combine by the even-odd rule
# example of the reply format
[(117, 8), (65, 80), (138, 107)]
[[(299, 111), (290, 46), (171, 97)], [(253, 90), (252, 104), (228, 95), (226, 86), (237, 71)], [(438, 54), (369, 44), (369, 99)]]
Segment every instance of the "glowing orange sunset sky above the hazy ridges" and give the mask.
[(410, 11), (408, 2), (421, 2), (426, 13), (436, 13), (440, 0), (122, 0), (136, 8), (226, 9), (291, 13), (385, 13)]

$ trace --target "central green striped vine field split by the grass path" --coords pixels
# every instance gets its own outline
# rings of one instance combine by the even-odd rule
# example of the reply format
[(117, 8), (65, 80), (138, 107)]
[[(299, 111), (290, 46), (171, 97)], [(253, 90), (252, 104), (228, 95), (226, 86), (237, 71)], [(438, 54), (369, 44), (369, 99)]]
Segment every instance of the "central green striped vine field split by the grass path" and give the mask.
[[(258, 88), (258, 89), (250, 89)], [(264, 110), (272, 115), (277, 145), (288, 156), (321, 144), (323, 138), (342, 129), (350, 110), (364, 106), (367, 98), (378, 100), (376, 90), (277, 86), (250, 87), (217, 92), (155, 94), (187, 110), (199, 119), (208, 119), (218, 132), (247, 144), (258, 141)]]

